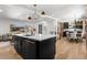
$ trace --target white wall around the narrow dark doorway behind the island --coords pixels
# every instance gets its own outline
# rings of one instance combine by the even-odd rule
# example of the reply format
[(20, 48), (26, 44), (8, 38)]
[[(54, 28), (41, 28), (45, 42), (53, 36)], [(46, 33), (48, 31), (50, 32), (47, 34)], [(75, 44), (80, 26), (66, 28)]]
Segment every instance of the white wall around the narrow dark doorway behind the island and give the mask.
[[(55, 23), (54, 23), (55, 22)], [(44, 20), (41, 20), (41, 22), (39, 22), (35, 28), (37, 29), (36, 30), (36, 33), (39, 32), (39, 24), (42, 24), (42, 33), (43, 34), (50, 34), (51, 32), (55, 31), (56, 32), (56, 21), (53, 20), (53, 19), (44, 19)]]

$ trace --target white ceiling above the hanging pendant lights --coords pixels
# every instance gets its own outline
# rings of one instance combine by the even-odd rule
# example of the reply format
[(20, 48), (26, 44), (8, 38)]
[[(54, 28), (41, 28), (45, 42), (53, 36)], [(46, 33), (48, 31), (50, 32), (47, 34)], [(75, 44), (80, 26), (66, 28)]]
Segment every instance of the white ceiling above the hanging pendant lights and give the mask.
[(56, 19), (78, 19), (85, 15), (86, 9), (83, 4), (37, 4), (36, 8), (33, 4), (0, 4), (0, 18), (28, 19), (36, 10)]

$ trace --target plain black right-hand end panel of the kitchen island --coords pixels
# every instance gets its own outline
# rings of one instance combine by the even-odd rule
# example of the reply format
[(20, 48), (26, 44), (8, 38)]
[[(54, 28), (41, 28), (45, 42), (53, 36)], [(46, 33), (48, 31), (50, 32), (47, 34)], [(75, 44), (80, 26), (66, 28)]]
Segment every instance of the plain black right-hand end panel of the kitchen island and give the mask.
[(55, 56), (55, 37), (44, 40), (40, 43), (40, 58), (52, 59)]

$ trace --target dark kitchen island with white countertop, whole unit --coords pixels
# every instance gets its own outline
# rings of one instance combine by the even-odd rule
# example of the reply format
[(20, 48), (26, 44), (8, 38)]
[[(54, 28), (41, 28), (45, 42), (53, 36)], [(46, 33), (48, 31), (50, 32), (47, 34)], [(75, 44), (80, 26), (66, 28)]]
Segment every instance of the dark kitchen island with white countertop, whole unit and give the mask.
[(13, 41), (15, 51), (24, 59), (53, 59), (55, 57), (56, 35), (17, 34)]

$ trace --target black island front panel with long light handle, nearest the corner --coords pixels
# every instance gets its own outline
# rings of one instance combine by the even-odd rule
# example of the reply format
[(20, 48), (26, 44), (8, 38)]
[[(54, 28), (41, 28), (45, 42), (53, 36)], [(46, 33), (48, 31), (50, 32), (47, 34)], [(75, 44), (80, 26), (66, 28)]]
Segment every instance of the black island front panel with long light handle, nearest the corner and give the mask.
[(36, 58), (36, 46), (34, 41), (23, 40), (22, 41), (22, 54), (25, 59)]

